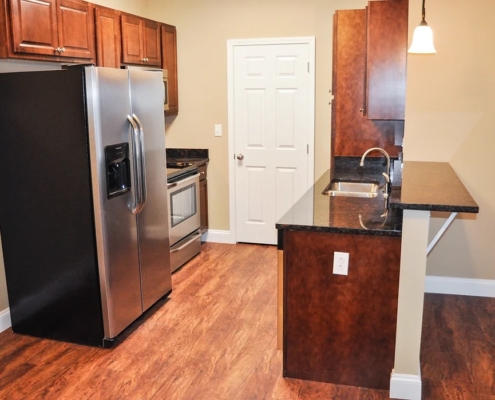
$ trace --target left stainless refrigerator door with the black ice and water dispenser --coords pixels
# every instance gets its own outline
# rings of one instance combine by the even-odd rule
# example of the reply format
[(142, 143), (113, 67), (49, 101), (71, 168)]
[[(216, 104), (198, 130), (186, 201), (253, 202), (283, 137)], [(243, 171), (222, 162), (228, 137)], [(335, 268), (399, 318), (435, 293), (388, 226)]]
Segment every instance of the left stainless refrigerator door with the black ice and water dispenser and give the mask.
[(134, 131), (127, 71), (85, 69), (103, 325), (114, 338), (142, 314)]

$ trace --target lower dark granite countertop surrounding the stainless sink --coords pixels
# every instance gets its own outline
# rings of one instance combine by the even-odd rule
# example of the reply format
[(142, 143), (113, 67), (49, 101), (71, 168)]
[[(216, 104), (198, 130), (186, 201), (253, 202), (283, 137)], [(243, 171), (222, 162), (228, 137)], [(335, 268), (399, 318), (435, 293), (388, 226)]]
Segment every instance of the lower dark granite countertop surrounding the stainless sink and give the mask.
[(401, 236), (402, 210), (387, 209), (382, 191), (375, 198), (330, 197), (322, 194), (332, 179), (378, 180), (382, 168), (330, 169), (277, 222), (279, 230)]

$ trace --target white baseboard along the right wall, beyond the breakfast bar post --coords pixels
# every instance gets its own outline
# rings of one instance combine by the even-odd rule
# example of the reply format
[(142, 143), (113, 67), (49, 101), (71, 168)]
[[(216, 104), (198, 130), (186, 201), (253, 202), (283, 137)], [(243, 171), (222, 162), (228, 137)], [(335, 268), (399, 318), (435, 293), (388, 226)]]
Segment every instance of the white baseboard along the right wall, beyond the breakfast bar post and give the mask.
[(495, 281), (489, 279), (427, 276), (425, 281), (425, 293), (495, 297)]

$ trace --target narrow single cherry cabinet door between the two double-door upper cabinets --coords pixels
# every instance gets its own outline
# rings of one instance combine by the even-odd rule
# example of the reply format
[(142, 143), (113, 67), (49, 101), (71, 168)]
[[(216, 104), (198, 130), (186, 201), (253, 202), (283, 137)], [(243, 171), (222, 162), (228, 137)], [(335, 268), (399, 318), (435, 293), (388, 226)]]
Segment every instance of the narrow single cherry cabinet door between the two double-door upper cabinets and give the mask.
[(120, 68), (120, 12), (95, 6), (96, 64)]

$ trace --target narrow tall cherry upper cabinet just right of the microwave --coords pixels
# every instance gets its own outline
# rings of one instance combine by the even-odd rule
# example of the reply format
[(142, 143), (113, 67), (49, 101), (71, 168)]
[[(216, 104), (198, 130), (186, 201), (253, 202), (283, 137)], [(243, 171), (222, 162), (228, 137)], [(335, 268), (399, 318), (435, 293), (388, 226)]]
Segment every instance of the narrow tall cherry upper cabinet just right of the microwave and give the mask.
[(177, 30), (162, 24), (162, 68), (168, 72), (168, 107), (165, 115), (179, 113), (179, 87), (177, 80)]

